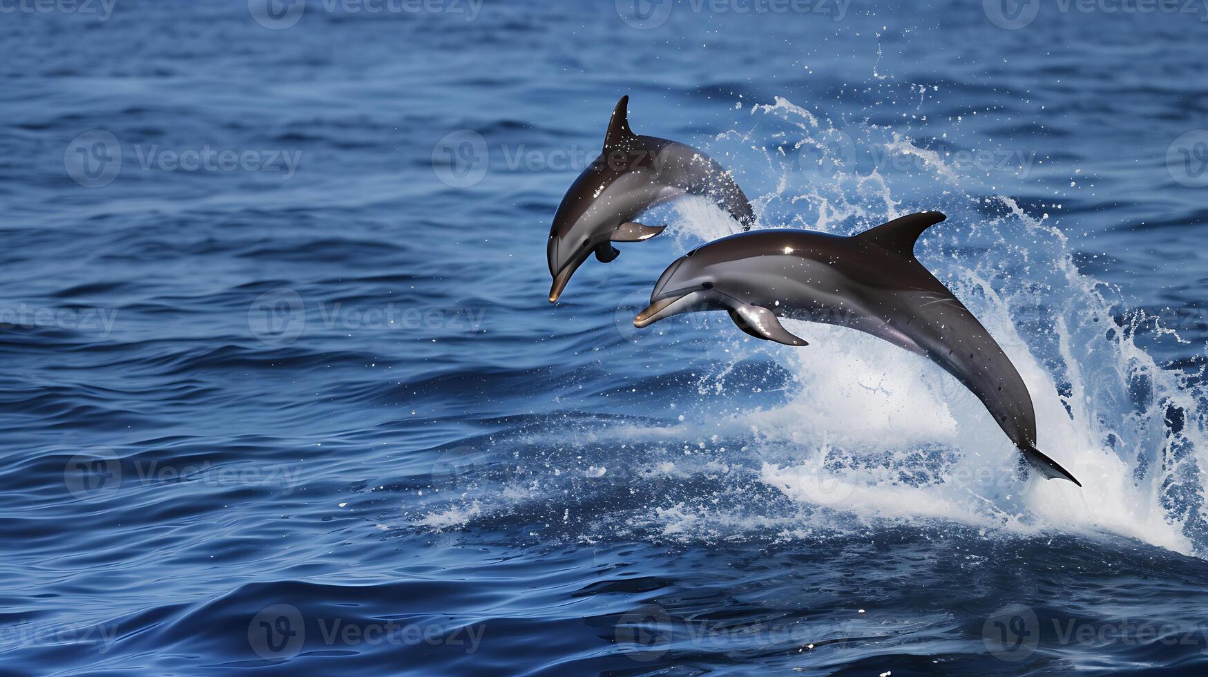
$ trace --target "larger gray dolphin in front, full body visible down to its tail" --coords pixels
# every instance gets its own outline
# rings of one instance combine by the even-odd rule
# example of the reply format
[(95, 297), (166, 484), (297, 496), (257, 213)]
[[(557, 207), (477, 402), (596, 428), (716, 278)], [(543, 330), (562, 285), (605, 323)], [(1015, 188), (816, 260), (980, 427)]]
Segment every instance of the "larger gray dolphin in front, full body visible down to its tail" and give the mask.
[(1045, 478), (1074, 479), (1036, 450), (1028, 388), (977, 318), (914, 259), (939, 212), (912, 214), (852, 237), (798, 230), (751, 231), (710, 242), (658, 278), (643, 328), (680, 313), (724, 309), (751, 336), (805, 346), (777, 317), (871, 334), (960, 380)]

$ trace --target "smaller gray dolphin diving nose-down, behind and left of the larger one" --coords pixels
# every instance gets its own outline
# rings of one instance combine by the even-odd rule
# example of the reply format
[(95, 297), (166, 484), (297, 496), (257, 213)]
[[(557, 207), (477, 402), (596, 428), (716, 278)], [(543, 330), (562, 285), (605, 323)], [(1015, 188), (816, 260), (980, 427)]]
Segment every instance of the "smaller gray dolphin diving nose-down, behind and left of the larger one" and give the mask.
[(620, 254), (614, 242), (641, 242), (662, 232), (666, 226), (633, 220), (656, 204), (698, 195), (713, 199), (745, 227), (755, 222), (750, 201), (720, 164), (692, 146), (634, 134), (628, 104), (629, 97), (616, 104), (604, 150), (575, 179), (553, 216), (546, 243), (553, 276), (551, 303), (593, 251), (608, 264)]

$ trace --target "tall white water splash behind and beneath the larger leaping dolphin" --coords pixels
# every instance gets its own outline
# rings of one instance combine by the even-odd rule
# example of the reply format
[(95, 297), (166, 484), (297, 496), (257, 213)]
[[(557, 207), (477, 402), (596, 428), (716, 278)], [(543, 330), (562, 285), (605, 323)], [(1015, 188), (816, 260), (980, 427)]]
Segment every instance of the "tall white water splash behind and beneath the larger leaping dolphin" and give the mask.
[[(920, 242), (919, 260), (1003, 345), (1032, 393), (1039, 446), (1086, 486), (1022, 481), (1010, 441), (940, 368), (852, 330), (805, 323), (789, 329), (808, 348), (773, 348), (797, 384), (788, 404), (739, 416), (761, 444), (798, 456), (765, 463), (765, 484), (869, 519), (1107, 531), (1206, 550), (1206, 393), (1133, 342), (1152, 319), (1122, 312), (1121, 293), (1078, 271), (1053, 218), (988, 191), (948, 160), (951, 150), (941, 155), (893, 129), (837, 128), (786, 99), (750, 112), (773, 128), (763, 132), (771, 144), (749, 132), (719, 143), (748, 144), (762, 160), (757, 170), (777, 177), (755, 201), (765, 227), (849, 235), (911, 212), (948, 214)], [(724, 216), (701, 202), (679, 212), (686, 239), (721, 230)]]

